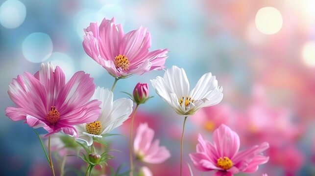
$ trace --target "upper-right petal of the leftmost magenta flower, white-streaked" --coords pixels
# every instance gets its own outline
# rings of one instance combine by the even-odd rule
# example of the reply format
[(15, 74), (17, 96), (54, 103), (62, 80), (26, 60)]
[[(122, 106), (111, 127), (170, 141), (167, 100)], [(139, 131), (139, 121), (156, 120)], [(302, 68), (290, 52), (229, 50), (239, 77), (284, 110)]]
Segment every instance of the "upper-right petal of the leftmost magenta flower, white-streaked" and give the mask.
[(93, 78), (90, 78), (90, 74), (78, 71), (74, 73), (73, 77), (60, 91), (55, 105), (56, 109), (63, 116), (76, 107), (86, 104), (94, 94), (94, 91), (95, 84), (93, 83)]

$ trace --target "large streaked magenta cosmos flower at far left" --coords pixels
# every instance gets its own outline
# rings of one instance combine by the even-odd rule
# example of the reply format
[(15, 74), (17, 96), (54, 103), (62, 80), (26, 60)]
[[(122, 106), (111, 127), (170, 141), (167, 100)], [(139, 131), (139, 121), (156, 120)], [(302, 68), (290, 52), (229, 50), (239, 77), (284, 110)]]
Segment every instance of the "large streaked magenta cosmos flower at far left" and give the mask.
[(43, 127), (46, 136), (61, 130), (77, 136), (73, 125), (93, 122), (100, 114), (101, 102), (89, 101), (94, 91), (89, 74), (78, 71), (66, 84), (59, 66), (42, 64), (35, 75), (24, 72), (9, 84), (8, 94), (16, 107), (6, 108), (5, 115), (33, 128)]

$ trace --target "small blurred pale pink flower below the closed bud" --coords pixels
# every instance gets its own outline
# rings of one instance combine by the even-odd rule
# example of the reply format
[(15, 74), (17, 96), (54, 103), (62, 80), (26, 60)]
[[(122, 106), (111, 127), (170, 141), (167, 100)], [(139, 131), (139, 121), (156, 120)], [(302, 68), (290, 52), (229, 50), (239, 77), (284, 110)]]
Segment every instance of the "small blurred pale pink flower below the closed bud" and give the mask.
[(152, 142), (153, 137), (154, 131), (146, 123), (140, 124), (134, 140), (134, 152), (144, 162), (159, 164), (170, 157), (170, 152), (164, 146), (159, 146), (160, 140)]

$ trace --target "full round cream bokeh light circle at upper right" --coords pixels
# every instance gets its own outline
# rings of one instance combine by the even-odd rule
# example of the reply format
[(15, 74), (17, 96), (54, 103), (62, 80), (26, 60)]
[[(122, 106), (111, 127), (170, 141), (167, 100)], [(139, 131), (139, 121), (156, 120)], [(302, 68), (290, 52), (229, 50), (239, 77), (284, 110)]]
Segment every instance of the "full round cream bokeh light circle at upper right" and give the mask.
[(256, 14), (256, 27), (263, 34), (271, 35), (279, 32), (282, 23), (282, 15), (274, 7), (263, 7)]

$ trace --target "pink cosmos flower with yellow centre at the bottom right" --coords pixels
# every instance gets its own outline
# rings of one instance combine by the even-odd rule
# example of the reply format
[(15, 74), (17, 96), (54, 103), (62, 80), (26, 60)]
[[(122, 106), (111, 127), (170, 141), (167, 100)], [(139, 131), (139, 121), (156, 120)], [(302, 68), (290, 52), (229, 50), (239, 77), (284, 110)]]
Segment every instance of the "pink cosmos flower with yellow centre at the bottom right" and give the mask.
[(257, 171), (258, 165), (269, 159), (261, 154), (269, 148), (267, 142), (239, 151), (239, 135), (224, 124), (213, 132), (213, 144), (204, 140), (201, 134), (198, 135), (198, 141), (196, 153), (190, 154), (194, 166), (201, 171), (217, 171), (215, 176), (253, 173)]

